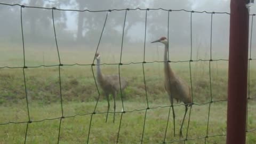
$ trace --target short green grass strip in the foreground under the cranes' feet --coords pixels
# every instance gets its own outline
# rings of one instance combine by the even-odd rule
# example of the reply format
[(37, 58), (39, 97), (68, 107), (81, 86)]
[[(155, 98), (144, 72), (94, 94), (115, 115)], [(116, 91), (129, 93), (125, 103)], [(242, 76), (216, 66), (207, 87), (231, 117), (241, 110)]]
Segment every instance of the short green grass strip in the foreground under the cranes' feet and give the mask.
[[(158, 107), (162, 103), (149, 103), (149, 107)], [(60, 143), (84, 143), (87, 141), (91, 115), (95, 102), (68, 102), (63, 103), (63, 115), (67, 118), (61, 123)], [(132, 111), (134, 109), (146, 108), (145, 103), (140, 102), (124, 102), (125, 110)], [(97, 113), (106, 111), (107, 102), (101, 101), (97, 106)], [(122, 108), (121, 101), (117, 101), (117, 110)], [(255, 128), (256, 116), (255, 102), (249, 103), (248, 127), (249, 130)], [(22, 122), (26, 121), (27, 111), (25, 105), (15, 105), (12, 107), (1, 106), (1, 122)], [(40, 121), (45, 118), (61, 117), (60, 103), (52, 103), (47, 106), (31, 103), (29, 105), (31, 121)], [(176, 114), (176, 131), (173, 136), (173, 120), (172, 115), (169, 119), (167, 127), (166, 141), (179, 139), (178, 129), (181, 124), (184, 107), (174, 107)], [(113, 110), (111, 110), (113, 111)], [(205, 137), (207, 130), (207, 116), (209, 104), (203, 106), (194, 105), (191, 108), (190, 123), (188, 130), (188, 139), (197, 137)], [(212, 103), (209, 118), (209, 136), (217, 134), (226, 134), (226, 111), (227, 102)], [(89, 114), (83, 116), (74, 116), (77, 114)], [(163, 142), (166, 130), (167, 117), (169, 107), (149, 109), (146, 115), (145, 132), (143, 135), (144, 143), (160, 143)], [(116, 122), (113, 123), (113, 114), (109, 114), (108, 122), (105, 123), (106, 114), (95, 114), (92, 117), (90, 143), (115, 143), (119, 128), (121, 114), (116, 114)], [(140, 143), (142, 137), (143, 122), (145, 118), (145, 110), (127, 112), (123, 114), (121, 130), (119, 133), (120, 143)], [(188, 126), (188, 115), (183, 127), (183, 134), (186, 135)], [(22, 143), (25, 138), (26, 123), (1, 125), (1, 141), (2, 143)], [(59, 119), (44, 120), (43, 122), (33, 122), (29, 124), (27, 143), (55, 143), (58, 140)], [(207, 143), (225, 143), (225, 136), (216, 136), (207, 139)], [(188, 143), (203, 143), (204, 139), (189, 140)], [(255, 131), (247, 133), (247, 143), (255, 143)]]

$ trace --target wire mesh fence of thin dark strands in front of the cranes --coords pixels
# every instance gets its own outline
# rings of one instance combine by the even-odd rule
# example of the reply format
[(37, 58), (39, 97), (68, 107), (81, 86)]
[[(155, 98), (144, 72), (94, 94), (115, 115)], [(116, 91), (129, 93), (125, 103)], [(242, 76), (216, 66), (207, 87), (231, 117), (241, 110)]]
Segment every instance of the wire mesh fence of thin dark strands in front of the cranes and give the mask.
[[(116, 139), (116, 143), (118, 143), (118, 138), (120, 135), (120, 131), (121, 131), (121, 127), (122, 127), (122, 117), (125, 113), (133, 113), (134, 111), (145, 111), (145, 117), (144, 117), (144, 121), (143, 121), (143, 127), (142, 127), (142, 135), (141, 135), (141, 143), (143, 143), (143, 136), (145, 134), (145, 129), (146, 129), (146, 119), (147, 119), (147, 110), (149, 109), (161, 109), (161, 108), (169, 108), (169, 114), (168, 114), (168, 118), (167, 118), (167, 122), (166, 122), (166, 129), (165, 129), (165, 135), (163, 138), (163, 141), (160, 143), (173, 143), (173, 142), (179, 142), (179, 141), (183, 141), (184, 143), (188, 140), (197, 140), (197, 139), (204, 139), (204, 142), (207, 143), (207, 138), (212, 138), (212, 137), (226, 137), (226, 134), (215, 134), (215, 135), (209, 135), (209, 121), (210, 121), (210, 113), (211, 113), (211, 105), (214, 102), (227, 102), (227, 100), (213, 100), (213, 95), (212, 95), (212, 76), (211, 76), (211, 63), (213, 61), (228, 61), (228, 59), (212, 59), (212, 28), (213, 28), (213, 15), (214, 14), (230, 14), (228, 12), (207, 12), (207, 11), (188, 11), (188, 10), (184, 10), (184, 9), (180, 9), (180, 10), (167, 10), (167, 9), (141, 9), (141, 8), (135, 8), (135, 9), (111, 9), (111, 10), (72, 10), (72, 9), (58, 9), (56, 7), (38, 7), (38, 6), (25, 6), (25, 5), (20, 5), (20, 4), (6, 4), (6, 3), (0, 3), (0, 5), (6, 5), (6, 6), (20, 6), (20, 20), (21, 20), (21, 34), (22, 34), (22, 47), (23, 47), (23, 66), (20, 67), (10, 67), (10, 66), (4, 66), (4, 67), (0, 67), (0, 69), (22, 69), (23, 70), (23, 81), (24, 81), (24, 85), (25, 85), (25, 94), (26, 94), (26, 107), (27, 107), (27, 114), (28, 114), (28, 121), (22, 121), (22, 122), (6, 122), (6, 123), (0, 123), (0, 125), (7, 125), (7, 124), (20, 124), (20, 123), (27, 123), (26, 126), (26, 133), (25, 133), (25, 143), (27, 140), (27, 132), (29, 130), (29, 124), (31, 123), (37, 123), (37, 122), (44, 122), (44, 121), (51, 121), (51, 120), (55, 120), (55, 119), (59, 119), (59, 130), (58, 130), (58, 140), (57, 143), (59, 143), (60, 141), (60, 134), (61, 134), (61, 122), (62, 119), (64, 118), (74, 118), (77, 116), (86, 116), (86, 115), (90, 115), (90, 125), (89, 125), (89, 130), (88, 130), (88, 134), (87, 134), (87, 143), (89, 143), (90, 141), (90, 133), (91, 133), (91, 129), (93, 129), (92, 127), (92, 121), (93, 121), (93, 116), (94, 115), (98, 115), (98, 114), (107, 114), (107, 113), (113, 113), (113, 114), (121, 114), (121, 119), (119, 121), (119, 127), (118, 127), (118, 133), (117, 133), (117, 139)], [(52, 22), (53, 22), (53, 30), (54, 30), (54, 37), (55, 37), (55, 44), (56, 44), (56, 48), (57, 48), (57, 52), (58, 52), (58, 59), (59, 59), (59, 63), (56, 63), (55, 65), (39, 65), (39, 66), (27, 66), (26, 65), (26, 57), (25, 57), (25, 44), (24, 44), (24, 39), (25, 37), (23, 36), (23, 25), (22, 25), (22, 9), (23, 8), (34, 8), (34, 9), (47, 9), (47, 10), (52, 10)], [(123, 50), (123, 42), (124, 42), (124, 29), (125, 29), (125, 22), (126, 22), (126, 14), (129, 10), (141, 10), (141, 11), (145, 11), (145, 37), (144, 37), (144, 45), (143, 45), (143, 61), (140, 62), (129, 62), (129, 63), (123, 63), (122, 62), (122, 50)], [(167, 37), (168, 37), (168, 43), (169, 43), (169, 13), (170, 12), (180, 12), (180, 11), (184, 11), (184, 12), (189, 12), (190, 13), (190, 59), (189, 60), (185, 60), (185, 61), (170, 61), (169, 60), (169, 53), (168, 53), (168, 61), (145, 61), (145, 46), (146, 46), (146, 36), (147, 36), (147, 11), (149, 10), (163, 10), (163, 11), (167, 11), (168, 12), (168, 28), (167, 28)], [(65, 64), (65, 63), (61, 63), (61, 59), (60, 59), (60, 53), (59, 53), (59, 47), (58, 47), (58, 39), (57, 39), (57, 34), (55, 32), (55, 25), (54, 25), (54, 11), (77, 11), (77, 12), (106, 12), (106, 18), (105, 18), (105, 22), (103, 23), (103, 27), (102, 27), (102, 31), (101, 31), (101, 35), (99, 38), (99, 42), (98, 42), (98, 46), (97, 49), (95, 51), (95, 54), (98, 52), (99, 49), (99, 45), (101, 42), (101, 37), (103, 34), (103, 31), (105, 29), (106, 26), (106, 22), (108, 19), (108, 14), (111, 11), (125, 11), (125, 15), (124, 15), (124, 25), (123, 25), (123, 30), (122, 30), (122, 46), (121, 46), (121, 56), (120, 56), (120, 60), (119, 63), (101, 63), (100, 65), (118, 65), (118, 76), (119, 76), (119, 84), (120, 84), (120, 91), (121, 91), (121, 101), (122, 101), (122, 108), (123, 111), (115, 111), (115, 112), (111, 112), (111, 111), (106, 111), (106, 112), (98, 112), (96, 111), (99, 99), (100, 99), (100, 91), (99, 91), (99, 86), (97, 84), (97, 79), (95, 77), (94, 71), (93, 71), (93, 67), (98, 65), (98, 64), (94, 64), (94, 59), (92, 61), (92, 63), (73, 63), (73, 64)], [(197, 59), (197, 60), (193, 60), (192, 59), (192, 53), (193, 53), (193, 43), (192, 43), (192, 37), (193, 37), (193, 31), (192, 31), (192, 27), (193, 27), (193, 23), (192, 23), (192, 19), (193, 19), (193, 13), (207, 13), (210, 14), (211, 16), (211, 21), (210, 21), (210, 59)], [(251, 35), (250, 35), (250, 54), (249, 54), (249, 70), (248, 70), (248, 97), (247, 97), (247, 103), (249, 102), (250, 99), (254, 99), (255, 97), (251, 97), (250, 95), (250, 62), (252, 60), (256, 60), (256, 58), (252, 58), (251, 57), (251, 49), (252, 49), (252, 29), (253, 29), (253, 17), (255, 14), (250, 14), (252, 21), (251, 21)], [(193, 95), (193, 84), (192, 84), (192, 76), (191, 76), (191, 63), (192, 62), (198, 62), (198, 61), (209, 61), (209, 84), (210, 84), (210, 101), (208, 102), (204, 102), (204, 103), (196, 103), (193, 101), (194, 95)], [(204, 137), (196, 137), (196, 138), (188, 138), (188, 133), (189, 133), (189, 123), (190, 123), (190, 115), (191, 115), (191, 109), (192, 106), (189, 108), (189, 116), (188, 116), (188, 125), (187, 125), (187, 131), (186, 131), (186, 137), (185, 139), (173, 139), (171, 141), (166, 141), (166, 133), (167, 133), (167, 127), (169, 124), (169, 120), (170, 120), (170, 111), (171, 108), (173, 107), (178, 107), (178, 106), (185, 106), (185, 104), (180, 103), (178, 105), (167, 105), (167, 106), (157, 106), (157, 107), (150, 107), (149, 103), (148, 103), (148, 95), (147, 95), (147, 85), (146, 85), (146, 77), (145, 77), (145, 68), (144, 65), (146, 63), (158, 63), (158, 62), (170, 62), (170, 63), (178, 63), (178, 62), (188, 62), (189, 63), (189, 78), (190, 78), (190, 88), (191, 88), (191, 94), (192, 94), (192, 103), (191, 105), (196, 105), (196, 106), (203, 106), (203, 105), (208, 105), (208, 114), (207, 114), (207, 126), (206, 126), (206, 134)], [(120, 67), (122, 65), (132, 65), (132, 64), (140, 64), (142, 65), (142, 70), (143, 70), (143, 82), (145, 85), (145, 94), (146, 94), (146, 102), (147, 102), (147, 107), (146, 108), (142, 108), (142, 109), (133, 109), (133, 110), (125, 110), (124, 107), (124, 103), (123, 103), (123, 95), (122, 95), (122, 89), (121, 89), (121, 79), (120, 79)], [(65, 116), (63, 114), (63, 105), (62, 105), (62, 86), (61, 86), (61, 67), (64, 66), (91, 66), (92, 69), (92, 74), (93, 74), (93, 79), (95, 82), (95, 87), (97, 88), (97, 92), (98, 92), (98, 98), (97, 98), (97, 102), (95, 104), (94, 110), (91, 113), (85, 113), (85, 114), (76, 114), (76, 115), (69, 115), (69, 116)], [(55, 118), (45, 118), (45, 119), (41, 119), (41, 120), (37, 120), (37, 121), (33, 121), (30, 119), (30, 115), (29, 115), (29, 102), (28, 102), (28, 95), (27, 95), (27, 86), (26, 86), (26, 70), (28, 68), (39, 68), (39, 67), (58, 67), (58, 73), (59, 73), (59, 89), (60, 89), (60, 104), (61, 104), (61, 117), (55, 117)], [(248, 106), (248, 105), (247, 105)], [(248, 114), (248, 107), (247, 107), (247, 114)], [(248, 129), (247, 126), (248, 123), (248, 115), (246, 117), (246, 132), (253, 132), (256, 130), (256, 127), (254, 129)], [(170, 130), (169, 130), (170, 131)], [(174, 128), (175, 131), (175, 128)]]

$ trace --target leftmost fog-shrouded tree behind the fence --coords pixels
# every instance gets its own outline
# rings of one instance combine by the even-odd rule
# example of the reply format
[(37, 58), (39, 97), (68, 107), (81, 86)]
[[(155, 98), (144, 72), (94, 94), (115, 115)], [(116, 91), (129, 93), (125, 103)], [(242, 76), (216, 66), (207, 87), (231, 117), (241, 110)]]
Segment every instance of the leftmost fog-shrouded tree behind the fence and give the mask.
[[(29, 6), (39, 7), (59, 7), (60, 5), (69, 4), (69, 0), (64, 1), (43, 1), (43, 0), (30, 0), (28, 1)], [(49, 39), (49, 33), (52, 33), (52, 14), (51, 10), (46, 9), (34, 9), (25, 7), (23, 9), (23, 25), (26, 29), (25, 34), (29, 36), (26, 41), (30, 42), (41, 42), (42, 39)], [(55, 26), (66, 28), (66, 13), (57, 12), (54, 13)]]

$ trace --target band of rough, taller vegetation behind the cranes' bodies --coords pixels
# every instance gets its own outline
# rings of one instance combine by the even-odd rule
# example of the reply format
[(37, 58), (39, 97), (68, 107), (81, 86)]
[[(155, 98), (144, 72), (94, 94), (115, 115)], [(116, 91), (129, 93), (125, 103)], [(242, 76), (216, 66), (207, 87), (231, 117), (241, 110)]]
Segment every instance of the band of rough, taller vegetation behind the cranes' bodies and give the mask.
[[(204, 103), (211, 100), (209, 68), (207, 69), (207, 63), (209, 62), (200, 63), (202, 64), (199, 66), (196, 66), (193, 63), (191, 67), (193, 99), (196, 103)], [(162, 63), (157, 64), (161, 65)], [(179, 74), (180, 77), (186, 79), (190, 85), (189, 69), (185, 68), (186, 66), (189, 66), (188, 63), (181, 64), (181, 66), (178, 66), (177, 63), (171, 63), (171, 65), (173, 65), (175, 72)], [(103, 65), (102, 67), (102, 71), (105, 74), (118, 74), (118, 66)], [(161, 69), (158, 69), (158, 67), (151, 63), (145, 64), (145, 77), (149, 102), (164, 102), (167, 100), (163, 86), (162, 65), (160, 67)], [(211, 73), (213, 100), (226, 100), (227, 69), (219, 68), (217, 75), (216, 69), (212, 68)], [(255, 70), (251, 70), (251, 73), (255, 73)], [(124, 100), (145, 101), (146, 91), (142, 66), (139, 64), (121, 66), (121, 76), (125, 77), (129, 82), (129, 86), (123, 92)], [(28, 68), (25, 69), (25, 77), (29, 101), (36, 100), (45, 104), (60, 101), (58, 67)], [(10, 102), (15, 103), (26, 98), (22, 69), (1, 69), (0, 81), (0, 94), (2, 96), (0, 97), (0, 103), (2, 103), (2, 105), (6, 105), (6, 103)], [(252, 97), (256, 94), (255, 86), (256, 77), (255, 75), (251, 75), (250, 94)], [(95, 101), (98, 98), (99, 93), (101, 95), (101, 89), (99, 88), (98, 93), (97, 87), (95, 86), (91, 66), (61, 67), (61, 89), (64, 102)], [(101, 100), (102, 99), (103, 97), (101, 97)]]

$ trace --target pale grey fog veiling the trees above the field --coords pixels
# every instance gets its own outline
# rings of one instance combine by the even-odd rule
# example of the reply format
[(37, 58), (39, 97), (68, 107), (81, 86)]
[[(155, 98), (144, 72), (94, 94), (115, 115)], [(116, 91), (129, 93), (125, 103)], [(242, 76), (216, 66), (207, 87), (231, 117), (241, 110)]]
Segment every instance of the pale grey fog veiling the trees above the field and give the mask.
[[(134, 9), (137, 7), (140, 7), (141, 9), (157, 9), (161, 7), (168, 10), (184, 9), (188, 11), (194, 10), (207, 12), (230, 11), (230, 1), (227, 0), (15, 0), (12, 2), (6, 0), (1, 1), (1, 3), (18, 3), (26, 6), (57, 7), (59, 9), (73, 10), (88, 9), (92, 11), (126, 8)], [(122, 46), (125, 11), (76, 12), (53, 10), (55, 31), (60, 52), (64, 50), (74, 51), (77, 53), (81, 52), (82, 50), (95, 52), (107, 13), (108, 18), (102, 34), (99, 51), (110, 55), (109, 57), (111, 57), (112, 53), (120, 53)], [(170, 14), (169, 36), (167, 32), (168, 13)], [(251, 7), (250, 13), (256, 13), (255, 6)], [(161, 60), (157, 58), (159, 57), (158, 55), (156, 57), (156, 52), (162, 53), (163, 49), (161, 47), (163, 47), (163, 45), (151, 44), (150, 42), (162, 36), (169, 37), (170, 54), (171, 58), (173, 58), (172, 60), (190, 59), (190, 48), (192, 48), (193, 59), (210, 59), (211, 14), (192, 13), (192, 29), (190, 29), (190, 14), (190, 12), (185, 11), (147, 11), (145, 43), (146, 60)], [(11, 47), (18, 47), (17, 49), (22, 53), (20, 6), (7, 6), (0, 4), (0, 18), (2, 20), (0, 23), (1, 49), (5, 49), (5, 52), (10, 52), (14, 51), (14, 49), (11, 50)], [(140, 55), (140, 60), (143, 60), (145, 20), (146, 11), (129, 10), (126, 13), (123, 38), (123, 53), (138, 54)], [(56, 52), (51, 9), (46, 10), (25, 7), (24, 9), (22, 9), (22, 24), (25, 49), (33, 48), (38, 49), (38, 51), (44, 51), (46, 49), (49, 49), (51, 51), (54, 51), (54, 53)], [(192, 47), (190, 42), (190, 30), (192, 31)], [(255, 31), (255, 28), (253, 31)], [(255, 33), (253, 33), (253, 37), (254, 35)], [(213, 59), (228, 58), (228, 42), (229, 15), (215, 13), (212, 16)], [(256, 45), (256, 41), (252, 41), (252, 45), (254, 47)], [(255, 53), (254, 48), (252, 52)], [(2, 54), (4, 53), (2, 52)], [(177, 55), (179, 55), (180, 57), (177, 57)], [(70, 54), (70, 57), (74, 56), (75, 55)], [(57, 59), (57, 55), (54, 55), (53, 57)], [(118, 57), (114, 59), (119, 59)], [(129, 61), (128, 59), (129, 57), (127, 56), (127, 61)], [(77, 61), (74, 60), (69, 62), (76, 63)]]

